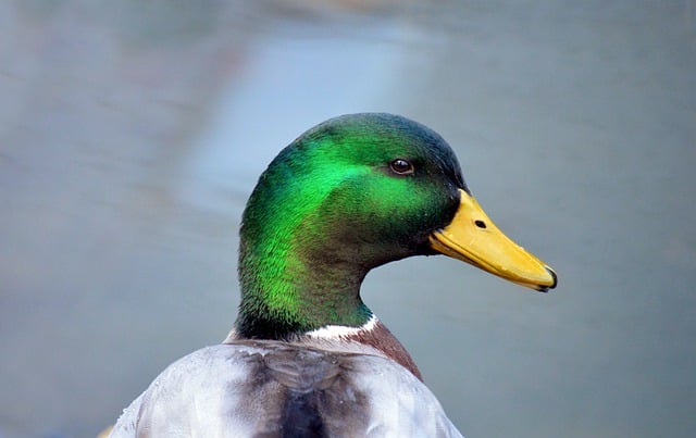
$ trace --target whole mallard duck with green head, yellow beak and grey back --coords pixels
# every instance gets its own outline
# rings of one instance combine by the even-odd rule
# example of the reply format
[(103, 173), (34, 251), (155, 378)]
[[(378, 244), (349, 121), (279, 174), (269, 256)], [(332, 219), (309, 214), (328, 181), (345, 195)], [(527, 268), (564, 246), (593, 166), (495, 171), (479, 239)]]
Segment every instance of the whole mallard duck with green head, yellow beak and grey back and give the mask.
[(239, 241), (232, 330), (167, 366), (111, 437), (461, 437), (362, 301), (365, 275), (444, 254), (542, 292), (558, 281), (486, 215), (443, 137), (387, 113), (327, 120), (283, 149)]

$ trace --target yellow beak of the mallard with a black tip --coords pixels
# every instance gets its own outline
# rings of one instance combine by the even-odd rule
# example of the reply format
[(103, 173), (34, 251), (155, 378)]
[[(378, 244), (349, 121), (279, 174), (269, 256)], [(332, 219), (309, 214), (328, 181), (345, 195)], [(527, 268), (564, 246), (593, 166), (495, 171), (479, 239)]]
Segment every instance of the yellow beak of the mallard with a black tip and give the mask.
[(464, 190), (452, 222), (430, 236), (432, 248), (520, 286), (542, 292), (556, 287), (556, 273), (513, 242)]

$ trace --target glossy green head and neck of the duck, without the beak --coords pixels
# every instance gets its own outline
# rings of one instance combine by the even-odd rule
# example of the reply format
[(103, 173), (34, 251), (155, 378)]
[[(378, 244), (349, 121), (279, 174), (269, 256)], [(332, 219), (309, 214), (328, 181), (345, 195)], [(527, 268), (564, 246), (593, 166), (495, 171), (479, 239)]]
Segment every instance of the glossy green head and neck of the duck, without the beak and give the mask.
[(373, 267), (433, 249), (469, 190), (447, 142), (390, 114), (324, 122), (261, 175), (240, 233), (244, 337), (285, 338), (371, 316), (360, 284)]

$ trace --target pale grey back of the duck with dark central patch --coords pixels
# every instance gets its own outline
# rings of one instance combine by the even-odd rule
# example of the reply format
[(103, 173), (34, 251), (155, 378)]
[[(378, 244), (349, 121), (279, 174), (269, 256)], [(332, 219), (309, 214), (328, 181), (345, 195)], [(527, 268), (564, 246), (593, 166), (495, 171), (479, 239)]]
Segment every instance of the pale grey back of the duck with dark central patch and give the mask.
[(239, 341), (170, 365), (112, 437), (459, 437), (433, 393), (389, 359)]

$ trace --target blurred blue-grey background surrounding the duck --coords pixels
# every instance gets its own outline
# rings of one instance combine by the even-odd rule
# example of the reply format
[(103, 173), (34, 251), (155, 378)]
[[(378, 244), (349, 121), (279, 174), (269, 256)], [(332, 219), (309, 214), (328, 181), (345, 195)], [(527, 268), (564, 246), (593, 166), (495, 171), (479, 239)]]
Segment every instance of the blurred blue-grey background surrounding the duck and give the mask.
[(220, 342), (259, 174), (364, 111), (559, 273), (368, 276), (464, 435), (696, 436), (695, 90), (693, 0), (3, 1), (0, 437), (94, 437)]

